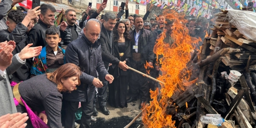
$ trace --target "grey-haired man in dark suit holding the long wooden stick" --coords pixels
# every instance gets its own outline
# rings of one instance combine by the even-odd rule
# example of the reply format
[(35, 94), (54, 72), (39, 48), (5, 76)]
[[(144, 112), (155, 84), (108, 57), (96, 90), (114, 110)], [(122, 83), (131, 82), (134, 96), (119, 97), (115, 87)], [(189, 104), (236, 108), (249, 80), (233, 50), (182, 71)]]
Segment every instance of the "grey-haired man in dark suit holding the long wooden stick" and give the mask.
[[(114, 35), (113, 35), (113, 28), (115, 27), (116, 23), (116, 16), (114, 13), (106, 13), (103, 18), (103, 26), (101, 30), (101, 37), (98, 42), (102, 46), (102, 60), (106, 69), (110, 65), (118, 65), (121, 69), (127, 70), (127, 65), (124, 62), (119, 61), (117, 58), (114, 57)], [(106, 108), (106, 89), (108, 86), (108, 82), (104, 79), (104, 77), (99, 75), (100, 80), (103, 82), (103, 87), (98, 88), (98, 102), (100, 106), (100, 110), (102, 110), (103, 114), (109, 115), (110, 112)], [(93, 113), (97, 112), (97, 109), (93, 105)]]

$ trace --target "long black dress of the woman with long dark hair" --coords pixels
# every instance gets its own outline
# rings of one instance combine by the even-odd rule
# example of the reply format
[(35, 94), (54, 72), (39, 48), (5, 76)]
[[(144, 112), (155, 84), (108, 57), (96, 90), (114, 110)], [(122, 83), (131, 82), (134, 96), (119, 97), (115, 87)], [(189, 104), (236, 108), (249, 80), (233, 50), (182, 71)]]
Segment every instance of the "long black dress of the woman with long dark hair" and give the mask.
[[(130, 56), (130, 41), (124, 43), (114, 44), (115, 56), (120, 61), (126, 61), (126, 64), (129, 63)], [(123, 56), (120, 57), (119, 53), (123, 53)], [(126, 93), (128, 87), (128, 71), (121, 70), (118, 66), (114, 65), (109, 68), (109, 73), (114, 76), (114, 81), (112, 84), (109, 84), (109, 97), (108, 102), (110, 106), (115, 107), (127, 107), (126, 102)]]

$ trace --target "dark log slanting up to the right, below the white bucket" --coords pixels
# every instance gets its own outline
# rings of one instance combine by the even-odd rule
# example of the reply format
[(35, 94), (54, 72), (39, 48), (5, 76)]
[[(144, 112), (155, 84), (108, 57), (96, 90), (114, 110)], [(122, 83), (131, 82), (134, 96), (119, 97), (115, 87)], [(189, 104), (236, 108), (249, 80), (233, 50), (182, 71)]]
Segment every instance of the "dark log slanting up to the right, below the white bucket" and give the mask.
[(233, 100), (233, 102), (231, 102), (229, 109), (225, 112), (225, 114), (223, 116), (223, 117), (225, 117), (224, 119), (227, 119), (227, 117), (229, 117), (232, 114), (233, 110), (238, 106), (239, 102), (243, 98), (243, 94), (244, 94), (243, 91), (244, 90), (240, 90), (238, 92), (238, 94), (234, 97), (234, 100)]

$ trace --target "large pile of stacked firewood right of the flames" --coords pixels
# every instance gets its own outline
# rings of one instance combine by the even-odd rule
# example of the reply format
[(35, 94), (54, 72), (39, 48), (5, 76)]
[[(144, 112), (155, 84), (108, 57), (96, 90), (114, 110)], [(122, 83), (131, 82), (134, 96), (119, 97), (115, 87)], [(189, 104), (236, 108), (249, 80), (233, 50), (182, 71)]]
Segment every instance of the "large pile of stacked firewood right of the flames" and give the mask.
[[(191, 58), (193, 76), (198, 80), (185, 90), (176, 90), (166, 113), (173, 115), (177, 128), (216, 128), (202, 124), (200, 117), (221, 114), (230, 125), (221, 128), (256, 127), (256, 40), (248, 40), (229, 22), (227, 10), (217, 13), (212, 35), (203, 41), (200, 57)], [(190, 66), (190, 67), (191, 67)], [(242, 75), (235, 83), (221, 76), (231, 70)], [(198, 71), (198, 72), (197, 72)], [(233, 122), (233, 123), (232, 123)]]

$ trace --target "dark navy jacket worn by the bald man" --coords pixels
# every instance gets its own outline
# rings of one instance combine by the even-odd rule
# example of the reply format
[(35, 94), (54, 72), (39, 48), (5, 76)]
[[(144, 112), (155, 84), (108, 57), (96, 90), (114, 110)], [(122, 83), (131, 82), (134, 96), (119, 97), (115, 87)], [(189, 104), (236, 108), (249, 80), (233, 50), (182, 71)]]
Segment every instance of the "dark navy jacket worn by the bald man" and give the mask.
[(83, 35), (81, 38), (68, 44), (65, 52), (66, 63), (74, 63), (82, 70), (80, 75), (81, 84), (71, 93), (63, 94), (63, 98), (71, 102), (88, 102), (93, 100), (95, 86), (93, 79), (97, 78), (97, 73), (101, 76), (108, 74), (102, 62), (101, 45), (96, 41), (92, 44)]

